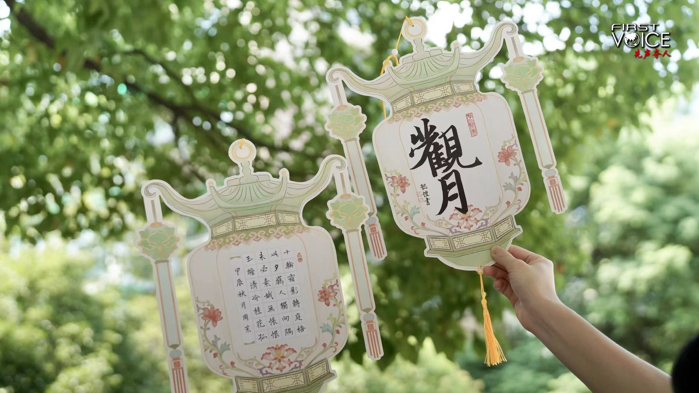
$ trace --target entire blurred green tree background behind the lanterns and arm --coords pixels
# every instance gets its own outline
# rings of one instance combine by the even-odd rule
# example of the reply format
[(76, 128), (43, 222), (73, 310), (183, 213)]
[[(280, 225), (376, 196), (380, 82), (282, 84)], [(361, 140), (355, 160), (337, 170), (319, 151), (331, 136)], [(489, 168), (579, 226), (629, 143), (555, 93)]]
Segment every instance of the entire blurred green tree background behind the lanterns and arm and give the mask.
[[(136, 255), (140, 184), (187, 197), (236, 173), (226, 155), (253, 141), (257, 169), (294, 180), (341, 152), (323, 129), (325, 72), (375, 78), (405, 15), (435, 45), (480, 48), (517, 22), (545, 67), (539, 96), (568, 212), (549, 211), (519, 99), (500, 83), (503, 50), (480, 89), (511, 103), (532, 196), (515, 243), (552, 259), (561, 299), (628, 350), (669, 371), (699, 331), (699, 9), (696, 0), (582, 1), (0, 1), (0, 392), (166, 392), (150, 262)], [(658, 23), (670, 57), (637, 59), (613, 23)], [(403, 41), (399, 52), (410, 52)], [(477, 275), (428, 260), (384, 203), (362, 134), (389, 256), (371, 266), (386, 356), (353, 336), (329, 392), (586, 392), (503, 296), (489, 308), (508, 362), (483, 364)], [(329, 227), (326, 192), (305, 209)], [(168, 216), (190, 250), (201, 224)], [(337, 234), (337, 233), (336, 233)], [(352, 300), (338, 241), (346, 299)], [(199, 359), (189, 287), (175, 258), (192, 392), (230, 392)]]

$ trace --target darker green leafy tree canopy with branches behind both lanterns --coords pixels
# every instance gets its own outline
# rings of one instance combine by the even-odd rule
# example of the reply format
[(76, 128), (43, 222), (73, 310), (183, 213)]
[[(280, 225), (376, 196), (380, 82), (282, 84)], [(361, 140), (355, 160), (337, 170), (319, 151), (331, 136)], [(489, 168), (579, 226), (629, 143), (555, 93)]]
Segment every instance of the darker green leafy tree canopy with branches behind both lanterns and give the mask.
[[(259, 170), (286, 166), (295, 180), (307, 178), (318, 159), (340, 151), (322, 127), (330, 109), (326, 69), (345, 64), (374, 78), (403, 17), (435, 10), (434, 1), (398, 0), (4, 2), (10, 30), (0, 37), (0, 166), (8, 169), (0, 172), (2, 217), (7, 234), (33, 242), (55, 229), (66, 237), (92, 229), (120, 238), (143, 222), (140, 182), (159, 178), (187, 197), (201, 194), (206, 178), (233, 173), (226, 148), (241, 137), (260, 148)], [(623, 125), (638, 124), (651, 96), (662, 100), (696, 83), (696, 61), (681, 55), (697, 36), (693, 3), (545, 1), (530, 5), (535, 9), (526, 17), (521, 10), (529, 6), (519, 1), (440, 6), (473, 11), (472, 22), (447, 34), (466, 48), (480, 48), (487, 38), (481, 28), (507, 17), (533, 48), (561, 41), (558, 50), (539, 56), (545, 68), (539, 94), (563, 182), (570, 184), (568, 175), (586, 167), (584, 145), (612, 141)], [(664, 23), (672, 57), (634, 59), (604, 43), (612, 23), (639, 15)], [(373, 41), (347, 42), (343, 29)], [(405, 41), (399, 51), (409, 51)], [(503, 50), (496, 63), (505, 59)], [(517, 242), (575, 271), (584, 260), (582, 239), (568, 215), (549, 212), (519, 101), (491, 76), (493, 66), (484, 70), (480, 88), (512, 102), (533, 184), (517, 216), (525, 229)], [(380, 103), (356, 95), (349, 100), (368, 116), (362, 140), (381, 195), (369, 142), (382, 118)], [(308, 206), (308, 222), (327, 225), (328, 197)], [(416, 361), (420, 347), (408, 343), (410, 336), (419, 343), (433, 338), (451, 357), (464, 340), (464, 310), (480, 307), (477, 276), (422, 257), (424, 244), (399, 231), (378, 199), (389, 234), (389, 257), (373, 268), (387, 354), (381, 365), (398, 353)], [(491, 313), (504, 305), (491, 301)], [(361, 341), (348, 348), (361, 360)]]

